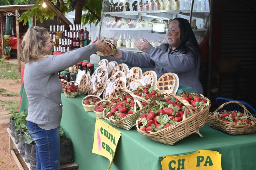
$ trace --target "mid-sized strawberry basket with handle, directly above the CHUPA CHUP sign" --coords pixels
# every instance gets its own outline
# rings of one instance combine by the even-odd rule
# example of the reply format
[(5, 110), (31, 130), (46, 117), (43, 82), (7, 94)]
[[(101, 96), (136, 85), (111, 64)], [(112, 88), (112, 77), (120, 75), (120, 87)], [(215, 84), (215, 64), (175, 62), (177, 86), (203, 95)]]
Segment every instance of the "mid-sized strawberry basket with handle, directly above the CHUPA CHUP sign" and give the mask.
[(147, 104), (149, 102), (123, 87), (117, 89), (117, 94), (116, 98), (104, 109), (103, 118), (117, 127), (130, 130), (135, 126), (139, 114), (147, 109), (141, 102)]

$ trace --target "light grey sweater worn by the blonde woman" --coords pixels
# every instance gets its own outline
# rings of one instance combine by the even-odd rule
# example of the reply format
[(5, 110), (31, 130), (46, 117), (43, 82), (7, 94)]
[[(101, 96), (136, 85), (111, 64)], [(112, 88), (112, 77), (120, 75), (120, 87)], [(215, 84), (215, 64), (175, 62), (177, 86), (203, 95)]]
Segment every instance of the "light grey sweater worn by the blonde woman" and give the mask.
[(87, 59), (98, 51), (95, 44), (28, 63), (24, 71), (24, 88), (29, 100), (27, 121), (45, 130), (60, 126), (62, 84), (57, 72)]

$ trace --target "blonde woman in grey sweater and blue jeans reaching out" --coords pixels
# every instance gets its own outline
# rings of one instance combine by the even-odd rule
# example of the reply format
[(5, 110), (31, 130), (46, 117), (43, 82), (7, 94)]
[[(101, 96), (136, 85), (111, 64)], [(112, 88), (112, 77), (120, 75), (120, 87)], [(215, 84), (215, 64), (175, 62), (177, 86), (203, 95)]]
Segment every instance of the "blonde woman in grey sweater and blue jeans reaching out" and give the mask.
[(96, 37), (88, 46), (54, 56), (53, 40), (47, 29), (30, 27), (24, 35), (20, 59), (26, 63), (24, 88), (29, 100), (26, 120), (31, 138), (36, 141), (36, 170), (60, 169), (62, 85), (57, 72), (89, 58), (96, 51), (111, 52), (103, 40), (97, 41)]

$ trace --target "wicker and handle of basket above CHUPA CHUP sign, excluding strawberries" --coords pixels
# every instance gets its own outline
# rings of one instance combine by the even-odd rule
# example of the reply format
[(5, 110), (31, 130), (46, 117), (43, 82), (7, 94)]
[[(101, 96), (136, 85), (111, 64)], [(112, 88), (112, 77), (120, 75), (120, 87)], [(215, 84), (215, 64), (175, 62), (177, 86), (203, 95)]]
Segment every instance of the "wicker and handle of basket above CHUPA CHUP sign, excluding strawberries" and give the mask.
[[(149, 103), (146, 99), (142, 98), (142, 97), (139, 97), (139, 96), (136, 96), (135, 94), (133, 94), (133, 92), (131, 92), (130, 90), (124, 88), (124, 87), (119, 87), (117, 89), (117, 93), (119, 95), (121, 94), (129, 94), (133, 97), (134, 99), (134, 102), (135, 102), (135, 105), (134, 105), (134, 111), (133, 111), (133, 114), (130, 114), (130, 115), (127, 115), (126, 117), (124, 117), (123, 119), (119, 119), (119, 120), (108, 120), (107, 117), (105, 116), (105, 110), (103, 111), (103, 118), (112, 123), (113, 125), (117, 126), (117, 127), (120, 127), (122, 129), (125, 129), (125, 130), (130, 130), (133, 126), (135, 126), (135, 123), (136, 123), (136, 120), (137, 118), (139, 117), (139, 114), (143, 111), (145, 111), (148, 107), (147, 106), (143, 106), (141, 104), (141, 102), (145, 102), (145, 103)], [(139, 110), (136, 109), (136, 105), (138, 105), (140, 107)]]

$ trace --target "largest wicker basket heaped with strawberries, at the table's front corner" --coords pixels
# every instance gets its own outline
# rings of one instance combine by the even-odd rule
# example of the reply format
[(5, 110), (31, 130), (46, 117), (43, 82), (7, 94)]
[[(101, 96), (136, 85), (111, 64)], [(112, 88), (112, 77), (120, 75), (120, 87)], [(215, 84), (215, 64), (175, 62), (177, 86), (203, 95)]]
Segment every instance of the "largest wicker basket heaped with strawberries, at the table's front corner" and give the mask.
[[(174, 145), (183, 138), (197, 133), (207, 123), (209, 100), (204, 107), (195, 108), (181, 96), (169, 91), (157, 93), (147, 110), (136, 120), (136, 130), (148, 138), (166, 145)], [(207, 105), (207, 106), (206, 106)], [(174, 133), (175, 132), (175, 133)]]

